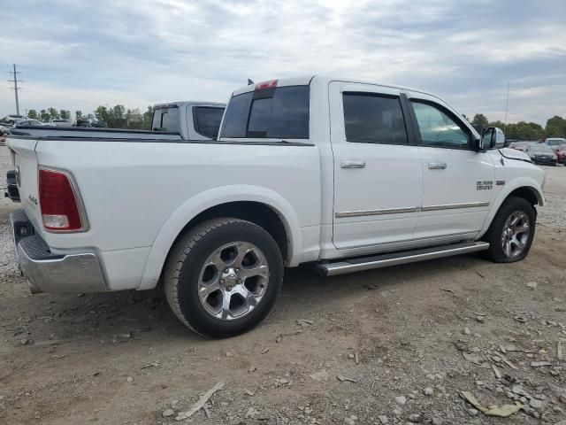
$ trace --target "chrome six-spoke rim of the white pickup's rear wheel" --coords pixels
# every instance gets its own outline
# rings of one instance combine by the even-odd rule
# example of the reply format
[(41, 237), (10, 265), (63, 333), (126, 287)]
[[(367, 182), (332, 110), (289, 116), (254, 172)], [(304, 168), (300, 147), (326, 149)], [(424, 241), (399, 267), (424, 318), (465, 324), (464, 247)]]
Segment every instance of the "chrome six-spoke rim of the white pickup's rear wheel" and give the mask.
[(253, 243), (226, 243), (204, 262), (198, 298), (204, 310), (222, 321), (241, 319), (264, 297), (269, 266)]

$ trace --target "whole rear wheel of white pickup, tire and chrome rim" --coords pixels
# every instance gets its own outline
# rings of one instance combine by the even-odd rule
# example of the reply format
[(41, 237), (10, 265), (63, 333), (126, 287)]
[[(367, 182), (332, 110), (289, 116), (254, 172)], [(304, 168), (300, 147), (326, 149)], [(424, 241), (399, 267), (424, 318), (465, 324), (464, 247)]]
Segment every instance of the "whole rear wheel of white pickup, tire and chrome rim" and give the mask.
[(237, 219), (204, 221), (175, 244), (164, 270), (173, 313), (203, 336), (255, 327), (283, 282), (283, 260), (264, 228)]

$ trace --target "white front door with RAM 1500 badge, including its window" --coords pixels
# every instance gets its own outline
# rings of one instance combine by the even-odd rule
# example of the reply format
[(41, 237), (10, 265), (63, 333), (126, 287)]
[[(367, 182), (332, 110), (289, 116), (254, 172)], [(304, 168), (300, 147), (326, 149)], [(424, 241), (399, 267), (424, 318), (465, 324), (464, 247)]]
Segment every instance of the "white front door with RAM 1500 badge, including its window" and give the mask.
[(473, 237), (493, 202), (494, 166), (476, 151), (474, 135), (447, 105), (414, 94), (409, 99), (417, 122), (423, 161), (424, 193), (415, 230), (418, 239)]

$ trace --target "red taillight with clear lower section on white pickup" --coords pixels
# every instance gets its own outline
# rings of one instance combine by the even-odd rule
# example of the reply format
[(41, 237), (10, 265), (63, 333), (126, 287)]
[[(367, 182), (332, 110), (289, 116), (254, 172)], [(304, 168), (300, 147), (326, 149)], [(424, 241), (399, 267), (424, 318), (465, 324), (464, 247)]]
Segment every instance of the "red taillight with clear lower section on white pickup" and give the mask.
[(82, 229), (79, 205), (68, 174), (40, 169), (39, 202), (44, 228), (54, 231)]

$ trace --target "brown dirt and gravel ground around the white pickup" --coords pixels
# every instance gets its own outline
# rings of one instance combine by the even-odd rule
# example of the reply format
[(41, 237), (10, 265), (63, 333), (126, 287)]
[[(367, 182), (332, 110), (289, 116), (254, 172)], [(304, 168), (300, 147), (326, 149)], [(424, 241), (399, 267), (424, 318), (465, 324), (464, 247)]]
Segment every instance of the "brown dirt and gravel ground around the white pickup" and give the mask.
[[(7, 235), (17, 205), (2, 201), (0, 423), (564, 421), (566, 167), (547, 172), (549, 206), (523, 262), (465, 255), (333, 278), (287, 270), (267, 320), (221, 341), (195, 336), (152, 292), (29, 295)], [(201, 409), (176, 421), (217, 383), (210, 419)], [(486, 407), (526, 407), (491, 417), (461, 391)]]

